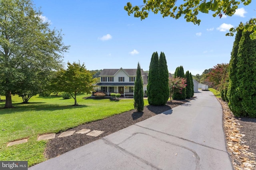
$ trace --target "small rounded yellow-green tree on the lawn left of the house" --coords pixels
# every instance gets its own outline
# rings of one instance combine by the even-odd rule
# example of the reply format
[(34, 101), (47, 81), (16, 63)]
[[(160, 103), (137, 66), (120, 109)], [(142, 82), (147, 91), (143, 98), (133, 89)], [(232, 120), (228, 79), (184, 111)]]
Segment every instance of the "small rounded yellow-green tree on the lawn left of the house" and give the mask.
[(60, 92), (69, 93), (74, 99), (74, 106), (78, 106), (76, 95), (79, 93), (89, 94), (93, 91), (93, 84), (96, 78), (93, 78), (93, 73), (86, 70), (84, 64), (68, 62), (67, 70), (61, 69), (58, 75), (58, 87)]

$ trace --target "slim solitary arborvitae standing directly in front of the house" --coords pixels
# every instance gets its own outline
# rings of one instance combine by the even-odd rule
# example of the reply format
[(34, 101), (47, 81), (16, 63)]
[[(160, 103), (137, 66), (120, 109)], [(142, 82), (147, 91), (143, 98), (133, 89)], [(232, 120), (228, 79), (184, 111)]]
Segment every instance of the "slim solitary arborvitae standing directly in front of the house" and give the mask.
[(143, 100), (143, 80), (141, 76), (140, 63), (138, 63), (136, 78), (134, 82), (134, 108), (137, 111), (143, 111), (144, 100)]

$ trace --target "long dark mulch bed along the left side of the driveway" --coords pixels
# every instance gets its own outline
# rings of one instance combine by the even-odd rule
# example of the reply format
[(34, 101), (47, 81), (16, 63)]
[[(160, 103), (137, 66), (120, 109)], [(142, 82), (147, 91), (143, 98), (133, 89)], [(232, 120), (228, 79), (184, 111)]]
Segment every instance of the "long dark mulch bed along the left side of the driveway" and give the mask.
[(69, 129), (68, 131), (79, 131), (81, 129), (91, 129), (104, 131), (98, 137), (88, 136), (86, 134), (76, 134), (74, 133), (68, 137), (58, 138), (60, 133), (56, 134), (55, 139), (51, 139), (47, 143), (47, 147), (45, 150), (45, 156), (47, 158), (54, 158), (59, 156), (60, 154), (64, 154), (70, 150), (76, 149), (93, 141), (96, 141), (102, 137), (110, 135), (116, 131), (124, 129), (130, 125), (148, 119), (154, 115), (160, 114), (164, 111), (172, 109), (176, 106), (184, 104), (188, 102), (188, 100), (172, 100), (172, 102), (167, 102), (164, 106), (145, 106), (143, 112), (136, 112), (136, 110), (126, 111), (124, 113), (114, 115), (108, 117), (106, 119), (102, 119), (99, 121), (94, 121), (91, 123), (86, 123), (84, 125), (79, 125), (73, 129)]

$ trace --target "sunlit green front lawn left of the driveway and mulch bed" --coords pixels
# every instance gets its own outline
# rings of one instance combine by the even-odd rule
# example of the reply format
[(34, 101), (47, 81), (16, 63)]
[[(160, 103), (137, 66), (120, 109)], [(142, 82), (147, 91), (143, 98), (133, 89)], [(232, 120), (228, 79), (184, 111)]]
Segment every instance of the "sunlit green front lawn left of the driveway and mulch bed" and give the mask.
[[(85, 99), (88, 95), (63, 100), (60, 96), (34, 96), (29, 104), (12, 96), (12, 109), (0, 109), (0, 160), (28, 160), (29, 166), (43, 162), (47, 141), (36, 141), (38, 135), (66, 131), (80, 124), (110, 117), (134, 109), (133, 99)], [(1, 99), (3, 96), (1, 96)], [(144, 100), (145, 105), (148, 101)], [(0, 102), (0, 108), (4, 102)], [(6, 147), (10, 141), (28, 138), (28, 143)]]

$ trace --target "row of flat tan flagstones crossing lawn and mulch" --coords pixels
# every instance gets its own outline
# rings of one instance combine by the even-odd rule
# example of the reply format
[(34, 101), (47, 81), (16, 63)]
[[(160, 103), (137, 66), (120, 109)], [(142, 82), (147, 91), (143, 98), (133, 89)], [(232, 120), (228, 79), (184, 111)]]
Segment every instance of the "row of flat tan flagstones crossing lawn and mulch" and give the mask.
[[(73, 135), (74, 133), (77, 133), (77, 134), (86, 134), (86, 135), (89, 135), (89, 136), (93, 136), (93, 137), (97, 137), (99, 136), (100, 134), (104, 133), (104, 131), (91, 131), (90, 129), (81, 129), (80, 131), (65, 131), (65, 132), (62, 132), (58, 137), (67, 137), (67, 136), (71, 136)], [(49, 139), (54, 139), (55, 138), (55, 133), (50, 133), (50, 134), (47, 134), (47, 135), (41, 135), (38, 137), (37, 141), (41, 141), (41, 140), (49, 140)], [(14, 142), (10, 142), (7, 144), (7, 147), (10, 147), (12, 145), (18, 145), (18, 144), (21, 144), (21, 143), (26, 143), (28, 142), (28, 139), (22, 139), (20, 141), (14, 141)]]

